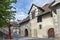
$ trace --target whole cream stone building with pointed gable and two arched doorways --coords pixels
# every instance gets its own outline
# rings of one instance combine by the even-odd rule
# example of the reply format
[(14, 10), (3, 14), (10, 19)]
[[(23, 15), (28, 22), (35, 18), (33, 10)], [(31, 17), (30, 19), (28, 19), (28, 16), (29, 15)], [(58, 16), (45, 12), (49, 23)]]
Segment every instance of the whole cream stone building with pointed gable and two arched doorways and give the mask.
[(57, 37), (58, 20), (54, 7), (56, 6), (52, 6), (52, 3), (46, 4), (42, 8), (32, 4), (28, 17), (20, 22), (21, 36)]

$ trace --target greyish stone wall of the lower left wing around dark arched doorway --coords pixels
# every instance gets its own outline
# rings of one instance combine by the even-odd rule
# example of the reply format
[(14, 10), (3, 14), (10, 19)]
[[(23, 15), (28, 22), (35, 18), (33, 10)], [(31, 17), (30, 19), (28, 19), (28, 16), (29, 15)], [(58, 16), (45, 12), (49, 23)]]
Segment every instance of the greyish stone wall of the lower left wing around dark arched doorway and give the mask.
[(28, 30), (28, 36), (30, 36), (30, 28), (29, 27), (30, 27), (29, 22), (20, 25), (20, 35), (25, 36), (25, 29), (27, 29)]

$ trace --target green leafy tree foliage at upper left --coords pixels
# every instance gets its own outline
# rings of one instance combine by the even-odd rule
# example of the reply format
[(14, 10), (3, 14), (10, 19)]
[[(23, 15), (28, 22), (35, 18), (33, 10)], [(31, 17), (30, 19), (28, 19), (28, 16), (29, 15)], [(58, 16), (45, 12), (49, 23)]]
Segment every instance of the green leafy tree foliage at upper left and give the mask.
[[(0, 27), (9, 25), (9, 21), (14, 17), (14, 12), (11, 9), (12, 3), (16, 3), (17, 0), (0, 0)], [(15, 9), (15, 8), (14, 8)]]

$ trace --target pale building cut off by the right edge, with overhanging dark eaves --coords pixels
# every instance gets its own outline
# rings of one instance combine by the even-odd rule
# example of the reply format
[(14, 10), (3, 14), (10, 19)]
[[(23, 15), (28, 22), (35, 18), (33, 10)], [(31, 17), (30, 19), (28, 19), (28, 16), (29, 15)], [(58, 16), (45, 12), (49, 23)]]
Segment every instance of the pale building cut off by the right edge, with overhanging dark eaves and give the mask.
[[(55, 26), (57, 28), (56, 36), (60, 38), (60, 0), (55, 0), (55, 3), (51, 5), (53, 13), (56, 13), (57, 20), (55, 20)], [(56, 18), (56, 17), (55, 17)]]

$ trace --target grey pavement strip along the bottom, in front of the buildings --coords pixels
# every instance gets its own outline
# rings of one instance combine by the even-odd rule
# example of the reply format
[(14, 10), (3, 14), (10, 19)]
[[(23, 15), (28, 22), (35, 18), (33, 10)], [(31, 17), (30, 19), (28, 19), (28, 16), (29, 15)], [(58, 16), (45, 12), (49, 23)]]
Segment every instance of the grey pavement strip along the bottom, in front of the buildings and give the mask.
[[(59, 40), (60, 38), (35, 38), (35, 37), (18, 37), (18, 38), (13, 38), (11, 40)], [(0, 40), (10, 40), (10, 39), (2, 39)]]

